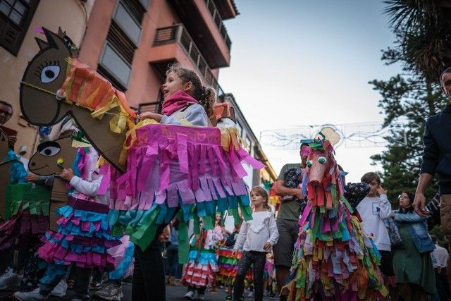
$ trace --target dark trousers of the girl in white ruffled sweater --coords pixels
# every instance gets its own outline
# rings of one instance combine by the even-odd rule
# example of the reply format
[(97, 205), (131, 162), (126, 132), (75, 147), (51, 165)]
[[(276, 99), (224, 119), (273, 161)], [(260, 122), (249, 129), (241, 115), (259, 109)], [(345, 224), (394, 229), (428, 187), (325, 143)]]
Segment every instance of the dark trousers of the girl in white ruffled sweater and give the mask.
[(263, 271), (266, 262), (266, 252), (244, 251), (237, 267), (235, 285), (233, 285), (233, 300), (240, 300), (244, 290), (247, 270), (254, 264), (254, 300), (263, 300)]

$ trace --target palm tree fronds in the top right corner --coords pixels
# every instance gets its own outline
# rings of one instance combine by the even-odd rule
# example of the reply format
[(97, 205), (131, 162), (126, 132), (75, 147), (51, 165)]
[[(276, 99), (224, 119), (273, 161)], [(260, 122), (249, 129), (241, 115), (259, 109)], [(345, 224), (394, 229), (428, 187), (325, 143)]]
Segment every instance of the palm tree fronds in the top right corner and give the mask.
[(393, 62), (420, 73), (426, 82), (438, 82), (451, 66), (451, 7), (440, 0), (385, 0), (385, 14), (397, 35), (397, 48), (389, 49)]

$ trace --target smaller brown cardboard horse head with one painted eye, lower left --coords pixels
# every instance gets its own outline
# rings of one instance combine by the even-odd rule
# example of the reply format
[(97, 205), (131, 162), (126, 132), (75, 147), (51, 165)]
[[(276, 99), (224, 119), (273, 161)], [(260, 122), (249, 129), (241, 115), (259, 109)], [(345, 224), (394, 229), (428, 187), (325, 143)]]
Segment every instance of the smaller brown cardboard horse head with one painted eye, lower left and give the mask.
[[(28, 163), (28, 169), (39, 176), (52, 176), (61, 173), (63, 168), (70, 168), (77, 149), (72, 147), (72, 137), (60, 137), (54, 141), (41, 143), (37, 147), (37, 152), (32, 155)], [(56, 231), (56, 220), (58, 214), (56, 210), (63, 207), (68, 202), (68, 185), (66, 181), (55, 177), (51, 188), (50, 196), (50, 229)]]

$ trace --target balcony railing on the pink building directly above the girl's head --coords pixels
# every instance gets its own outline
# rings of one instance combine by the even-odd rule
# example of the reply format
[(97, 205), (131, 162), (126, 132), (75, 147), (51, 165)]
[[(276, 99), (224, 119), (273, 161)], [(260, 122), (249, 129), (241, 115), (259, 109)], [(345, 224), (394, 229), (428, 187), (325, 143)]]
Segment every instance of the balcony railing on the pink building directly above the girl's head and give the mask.
[(200, 75), (204, 78), (206, 85), (211, 85), (216, 89), (218, 96), (224, 94), (218, 81), (214, 78), (213, 73), (206, 63), (204, 56), (200, 53), (196, 44), (194, 44), (192, 37), (187, 32), (183, 24), (175, 24), (168, 27), (161, 27), (156, 30), (154, 46), (178, 43), (185, 50), (187, 56), (191, 59), (194, 66), (199, 70)]

